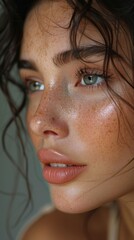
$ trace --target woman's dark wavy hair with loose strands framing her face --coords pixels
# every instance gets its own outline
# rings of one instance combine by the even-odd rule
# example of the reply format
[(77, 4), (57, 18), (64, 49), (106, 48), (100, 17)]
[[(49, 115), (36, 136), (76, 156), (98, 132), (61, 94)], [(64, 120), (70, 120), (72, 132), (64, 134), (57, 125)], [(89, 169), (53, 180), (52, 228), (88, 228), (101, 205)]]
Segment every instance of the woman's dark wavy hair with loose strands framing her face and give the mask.
[[(77, 57), (82, 59), (80, 51), (77, 51), (77, 34), (79, 32), (81, 22), (85, 23), (85, 25), (83, 25), (82, 34), (84, 34), (84, 26), (86, 27), (86, 24), (91, 23), (101, 34), (104, 40), (104, 44), (100, 44), (97, 49), (92, 48), (92, 51), (94, 51), (93, 53), (104, 52), (103, 70), (105, 75), (107, 76), (109, 62), (111, 62), (120, 77), (126, 81), (131, 88), (134, 88), (133, 77), (130, 78), (126, 72), (123, 75), (116, 67), (114, 60), (116, 57), (122, 67), (123, 64), (126, 64), (130, 69), (134, 69), (134, 0), (66, 0), (66, 2), (73, 9), (68, 29), (70, 30), (71, 47), (75, 49)], [(19, 140), (26, 159), (26, 166), (28, 166), (28, 160), (25, 154), (23, 140), (20, 135), (20, 126), (23, 126), (20, 113), (26, 105), (26, 91), (23, 85), (11, 76), (11, 70), (14, 65), (18, 63), (25, 19), (30, 9), (37, 3), (39, 3), (37, 0), (0, 0), (0, 5), (2, 7), (0, 18), (0, 87), (8, 100), (13, 114), (12, 119), (9, 121), (3, 132), (3, 147), (11, 159), (10, 154), (6, 149), (5, 135), (8, 127), (13, 121), (15, 121)], [(96, 5), (97, 7), (95, 7)], [(128, 49), (130, 49), (131, 52), (129, 59), (124, 52), (123, 55), (119, 53), (119, 48), (122, 49), (121, 43), (119, 42), (120, 29), (124, 32), (128, 40)], [(113, 43), (115, 44), (114, 48)], [(23, 92), (23, 99), (19, 106), (16, 106), (13, 101), (8, 83), (16, 85), (19, 90)], [(118, 103), (115, 100), (116, 97), (120, 98), (128, 105), (128, 107), (134, 110), (133, 103), (127, 102), (115, 93), (110, 86), (108, 86), (108, 89), (110, 97), (117, 105)], [(131, 161), (133, 161), (133, 159)], [(26, 167), (25, 174), (17, 165), (16, 167), (21, 174), (23, 174), (28, 186), (28, 167)], [(124, 168), (125, 167), (126, 166), (124, 166)], [(28, 193), (30, 197), (29, 186)]]

